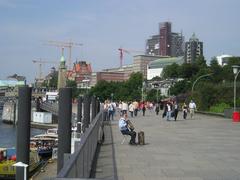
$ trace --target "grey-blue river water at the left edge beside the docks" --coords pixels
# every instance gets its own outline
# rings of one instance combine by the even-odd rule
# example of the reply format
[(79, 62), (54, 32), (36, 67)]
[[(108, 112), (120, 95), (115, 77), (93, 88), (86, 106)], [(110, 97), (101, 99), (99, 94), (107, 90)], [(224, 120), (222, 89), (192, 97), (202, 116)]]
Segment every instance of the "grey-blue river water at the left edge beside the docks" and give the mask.
[[(16, 126), (2, 122), (0, 112), (0, 148), (16, 147)], [(45, 130), (31, 128), (31, 136), (42, 134)]]

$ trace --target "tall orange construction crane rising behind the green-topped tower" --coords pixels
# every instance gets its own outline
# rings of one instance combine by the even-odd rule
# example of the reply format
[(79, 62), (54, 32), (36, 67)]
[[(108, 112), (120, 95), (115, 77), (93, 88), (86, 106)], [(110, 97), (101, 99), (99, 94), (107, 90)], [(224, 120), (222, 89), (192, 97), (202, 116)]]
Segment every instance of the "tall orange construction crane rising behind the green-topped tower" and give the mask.
[[(74, 46), (82, 46), (81, 43), (74, 43), (72, 41), (64, 42), (64, 41), (48, 41), (47, 45), (60, 47), (63, 51), (64, 48), (69, 48), (69, 58), (68, 58), (68, 69), (71, 69), (72, 66), (72, 47)], [(62, 52), (63, 54), (63, 52)]]

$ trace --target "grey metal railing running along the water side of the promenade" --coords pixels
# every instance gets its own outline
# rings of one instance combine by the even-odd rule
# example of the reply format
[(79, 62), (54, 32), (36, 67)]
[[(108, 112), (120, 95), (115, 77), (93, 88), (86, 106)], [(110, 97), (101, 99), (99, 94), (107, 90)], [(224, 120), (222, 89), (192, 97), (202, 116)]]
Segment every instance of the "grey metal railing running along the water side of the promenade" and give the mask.
[(81, 136), (81, 141), (76, 142), (75, 152), (69, 155), (58, 178), (89, 178), (92, 162), (94, 160), (98, 141), (103, 137), (102, 111), (93, 119), (89, 128)]

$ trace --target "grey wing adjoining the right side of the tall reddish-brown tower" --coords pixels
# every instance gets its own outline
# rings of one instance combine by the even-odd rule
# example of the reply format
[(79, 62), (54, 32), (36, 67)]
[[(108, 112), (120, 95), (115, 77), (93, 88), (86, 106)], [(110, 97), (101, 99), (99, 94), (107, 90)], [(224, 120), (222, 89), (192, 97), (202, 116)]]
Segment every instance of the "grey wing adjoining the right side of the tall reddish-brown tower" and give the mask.
[(184, 56), (184, 37), (182, 33), (171, 33), (171, 56)]

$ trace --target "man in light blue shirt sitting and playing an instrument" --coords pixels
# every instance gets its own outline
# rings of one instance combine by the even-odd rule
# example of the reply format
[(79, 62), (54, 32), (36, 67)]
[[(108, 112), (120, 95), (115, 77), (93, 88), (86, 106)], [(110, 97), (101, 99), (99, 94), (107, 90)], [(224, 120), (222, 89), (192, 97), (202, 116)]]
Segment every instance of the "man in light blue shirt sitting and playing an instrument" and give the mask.
[(129, 135), (131, 136), (131, 140), (129, 144), (136, 145), (135, 139), (136, 139), (136, 132), (134, 131), (134, 127), (132, 123), (127, 120), (127, 114), (123, 114), (119, 119), (119, 130), (123, 135)]

